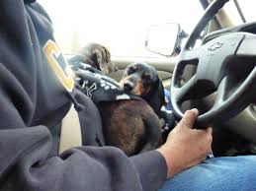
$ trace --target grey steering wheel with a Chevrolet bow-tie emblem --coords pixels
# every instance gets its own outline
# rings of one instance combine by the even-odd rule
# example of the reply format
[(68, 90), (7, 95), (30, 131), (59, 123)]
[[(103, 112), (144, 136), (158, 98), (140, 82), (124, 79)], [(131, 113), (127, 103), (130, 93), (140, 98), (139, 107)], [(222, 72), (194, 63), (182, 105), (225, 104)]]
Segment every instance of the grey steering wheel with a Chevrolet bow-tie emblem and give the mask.
[[(199, 128), (230, 119), (248, 106), (256, 95), (255, 34), (224, 33), (192, 50), (200, 33), (227, 1), (215, 0), (206, 10), (189, 36), (173, 73), (171, 102), (179, 118), (184, 115), (182, 103), (185, 100), (201, 99), (216, 93), (213, 107), (198, 117)], [(195, 65), (197, 70), (182, 85), (181, 79), (187, 65)]]

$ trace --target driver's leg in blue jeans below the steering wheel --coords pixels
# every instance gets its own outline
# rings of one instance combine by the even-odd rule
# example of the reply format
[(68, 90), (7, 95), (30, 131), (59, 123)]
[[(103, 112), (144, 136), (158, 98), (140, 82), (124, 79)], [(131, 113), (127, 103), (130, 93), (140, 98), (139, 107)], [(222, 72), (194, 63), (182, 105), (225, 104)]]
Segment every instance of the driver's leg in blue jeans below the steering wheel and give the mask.
[(167, 180), (159, 191), (256, 191), (256, 156), (214, 158)]

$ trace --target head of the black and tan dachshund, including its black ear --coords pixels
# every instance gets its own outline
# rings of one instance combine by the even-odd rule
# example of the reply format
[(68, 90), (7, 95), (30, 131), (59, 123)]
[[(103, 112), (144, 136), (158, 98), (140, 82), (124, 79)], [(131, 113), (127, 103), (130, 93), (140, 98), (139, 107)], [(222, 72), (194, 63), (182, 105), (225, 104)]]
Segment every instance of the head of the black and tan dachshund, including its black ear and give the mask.
[(140, 96), (159, 115), (165, 104), (164, 88), (154, 67), (146, 63), (134, 63), (124, 72), (120, 87), (130, 95)]

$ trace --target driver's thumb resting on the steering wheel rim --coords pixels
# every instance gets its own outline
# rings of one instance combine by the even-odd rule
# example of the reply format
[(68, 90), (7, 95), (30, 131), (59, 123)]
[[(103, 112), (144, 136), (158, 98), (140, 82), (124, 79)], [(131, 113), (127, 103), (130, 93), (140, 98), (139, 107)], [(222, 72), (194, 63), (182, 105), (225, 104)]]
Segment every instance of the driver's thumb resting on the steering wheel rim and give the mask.
[(199, 114), (199, 110), (196, 108), (187, 110), (184, 114), (184, 117), (180, 121), (179, 125), (182, 127), (184, 126), (192, 129), (195, 121), (197, 120), (198, 114)]

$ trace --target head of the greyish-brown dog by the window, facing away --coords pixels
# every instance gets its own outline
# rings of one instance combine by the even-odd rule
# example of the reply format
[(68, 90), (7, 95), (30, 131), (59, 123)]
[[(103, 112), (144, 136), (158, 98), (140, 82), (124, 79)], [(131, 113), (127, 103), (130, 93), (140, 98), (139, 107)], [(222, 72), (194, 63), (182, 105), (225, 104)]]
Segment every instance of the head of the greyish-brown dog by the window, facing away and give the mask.
[(80, 51), (83, 56), (83, 62), (90, 64), (92, 67), (110, 74), (118, 71), (118, 67), (111, 62), (111, 53), (103, 45), (98, 43), (90, 43), (83, 47)]

